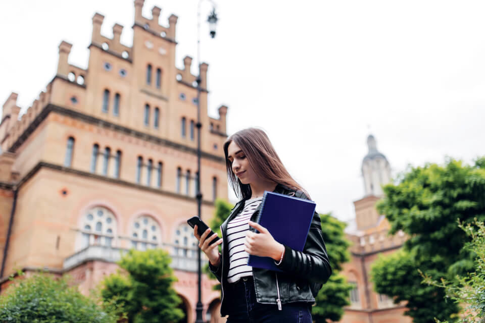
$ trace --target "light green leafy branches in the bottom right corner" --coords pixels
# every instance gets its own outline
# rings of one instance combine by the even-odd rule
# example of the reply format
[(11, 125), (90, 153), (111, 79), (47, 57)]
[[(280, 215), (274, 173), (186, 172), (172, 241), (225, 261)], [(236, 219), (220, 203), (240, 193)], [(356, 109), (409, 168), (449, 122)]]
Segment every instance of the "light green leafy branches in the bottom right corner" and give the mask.
[(464, 249), (475, 255), (475, 272), (457, 276), (452, 281), (445, 279), (436, 281), (422, 273), (421, 276), (427, 285), (444, 288), (448, 298), (458, 304), (466, 304), (461, 311), (460, 323), (483, 322), (485, 321), (485, 224), (475, 220), (473, 225), (464, 226), (459, 223), (458, 227), (471, 238)]

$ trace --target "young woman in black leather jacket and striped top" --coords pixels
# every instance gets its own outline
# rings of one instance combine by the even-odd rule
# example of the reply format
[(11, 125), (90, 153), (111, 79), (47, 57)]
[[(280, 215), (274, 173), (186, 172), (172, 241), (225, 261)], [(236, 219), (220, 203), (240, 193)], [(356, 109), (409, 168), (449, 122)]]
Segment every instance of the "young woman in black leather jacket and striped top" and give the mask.
[[(199, 247), (209, 257), (210, 270), (222, 285), (221, 315), (229, 315), (227, 323), (311, 323), (311, 304), (332, 272), (318, 213), (303, 252), (278, 243), (268, 230), (251, 221), (259, 213), (264, 191), (305, 199), (308, 194), (288, 174), (262, 130), (233, 134), (224, 143), (224, 154), (229, 183), (241, 200), (222, 224), (222, 239), (216, 243), (209, 245), (217, 239), (216, 234), (208, 237), (210, 229), (199, 236), (194, 228)], [(249, 254), (273, 258), (282, 273), (248, 266)]]

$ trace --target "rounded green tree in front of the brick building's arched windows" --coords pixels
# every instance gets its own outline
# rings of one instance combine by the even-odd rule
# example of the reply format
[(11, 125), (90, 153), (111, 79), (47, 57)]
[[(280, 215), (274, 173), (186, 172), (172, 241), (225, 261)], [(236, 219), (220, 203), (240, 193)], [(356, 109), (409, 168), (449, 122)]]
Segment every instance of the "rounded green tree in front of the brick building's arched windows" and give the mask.
[(184, 317), (177, 308), (181, 299), (172, 287), (177, 279), (165, 250), (131, 249), (118, 262), (126, 273), (112, 274), (103, 283), (105, 302), (118, 306), (118, 314), (126, 313), (129, 323), (176, 322)]

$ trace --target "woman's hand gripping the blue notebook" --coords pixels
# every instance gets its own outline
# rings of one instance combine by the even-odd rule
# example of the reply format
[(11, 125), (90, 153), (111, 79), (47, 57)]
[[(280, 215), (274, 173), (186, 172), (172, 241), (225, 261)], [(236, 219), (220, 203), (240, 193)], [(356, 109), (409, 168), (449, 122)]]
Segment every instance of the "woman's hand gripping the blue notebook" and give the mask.
[(259, 233), (249, 231), (246, 234), (244, 250), (255, 256), (271, 257), (279, 261), (284, 251), (284, 246), (274, 240), (271, 233), (265, 227), (253, 221), (250, 221), (249, 225), (258, 230)]

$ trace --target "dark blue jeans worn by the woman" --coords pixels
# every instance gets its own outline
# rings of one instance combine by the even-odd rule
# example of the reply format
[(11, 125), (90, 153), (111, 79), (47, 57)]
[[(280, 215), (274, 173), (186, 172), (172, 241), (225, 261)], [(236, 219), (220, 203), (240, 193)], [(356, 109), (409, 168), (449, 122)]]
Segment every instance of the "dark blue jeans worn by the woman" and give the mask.
[(309, 303), (286, 303), (278, 310), (276, 304), (261, 304), (256, 301), (252, 277), (241, 278), (228, 284), (227, 299), (230, 302), (226, 323), (312, 323)]

